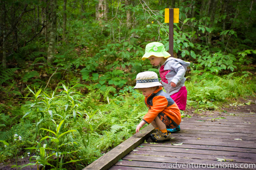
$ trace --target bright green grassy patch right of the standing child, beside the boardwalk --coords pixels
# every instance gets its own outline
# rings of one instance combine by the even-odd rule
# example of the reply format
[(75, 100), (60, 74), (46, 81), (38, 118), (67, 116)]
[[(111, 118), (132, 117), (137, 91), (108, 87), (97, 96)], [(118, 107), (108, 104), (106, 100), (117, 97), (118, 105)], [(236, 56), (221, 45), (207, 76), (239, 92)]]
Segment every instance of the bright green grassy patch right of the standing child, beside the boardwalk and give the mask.
[(192, 76), (189, 77), (191, 80), (186, 81), (188, 105), (217, 109), (218, 102), (253, 96), (256, 92), (253, 85), (255, 79), (246, 79), (247, 72), (241, 77), (236, 77), (235, 74), (237, 73), (219, 77), (209, 72), (198, 74), (197, 71), (192, 71)]

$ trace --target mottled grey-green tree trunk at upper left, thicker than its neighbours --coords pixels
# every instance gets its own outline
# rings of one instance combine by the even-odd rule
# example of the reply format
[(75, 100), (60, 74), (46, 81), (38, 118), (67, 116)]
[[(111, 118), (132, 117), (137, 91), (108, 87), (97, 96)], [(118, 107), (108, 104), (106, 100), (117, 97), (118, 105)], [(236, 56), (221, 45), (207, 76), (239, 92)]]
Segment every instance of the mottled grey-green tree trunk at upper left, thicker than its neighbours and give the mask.
[(55, 38), (56, 38), (56, 31), (57, 31), (57, 15), (56, 15), (56, 6), (57, 0), (51, 0), (51, 14), (50, 18), (50, 34), (49, 34), (49, 47), (47, 51), (47, 63), (51, 63), (52, 59), (54, 58), (55, 53)]

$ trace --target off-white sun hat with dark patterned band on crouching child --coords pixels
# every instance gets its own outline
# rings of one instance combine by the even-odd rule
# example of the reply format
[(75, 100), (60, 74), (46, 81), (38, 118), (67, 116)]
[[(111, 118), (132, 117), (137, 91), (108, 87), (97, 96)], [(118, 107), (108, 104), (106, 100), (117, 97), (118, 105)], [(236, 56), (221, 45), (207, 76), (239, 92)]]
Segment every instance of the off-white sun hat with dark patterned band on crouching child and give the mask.
[(158, 81), (157, 74), (154, 71), (144, 71), (137, 74), (134, 88), (151, 88), (155, 86), (162, 86), (162, 84)]

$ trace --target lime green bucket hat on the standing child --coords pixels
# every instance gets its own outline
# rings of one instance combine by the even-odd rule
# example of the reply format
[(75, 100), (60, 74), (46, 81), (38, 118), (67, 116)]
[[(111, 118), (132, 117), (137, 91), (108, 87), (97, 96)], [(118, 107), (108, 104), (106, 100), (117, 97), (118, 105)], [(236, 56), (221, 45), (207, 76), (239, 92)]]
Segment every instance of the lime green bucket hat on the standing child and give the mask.
[(151, 42), (146, 45), (145, 54), (143, 55), (142, 60), (145, 60), (150, 56), (168, 58), (171, 56), (171, 54), (165, 51), (164, 45), (162, 43)]

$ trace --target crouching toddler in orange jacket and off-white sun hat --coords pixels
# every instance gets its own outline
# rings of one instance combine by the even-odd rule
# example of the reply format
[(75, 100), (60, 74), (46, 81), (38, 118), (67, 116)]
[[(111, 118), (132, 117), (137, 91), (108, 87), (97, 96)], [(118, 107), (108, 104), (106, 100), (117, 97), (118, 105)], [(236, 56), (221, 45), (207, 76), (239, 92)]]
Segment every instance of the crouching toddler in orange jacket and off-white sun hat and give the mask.
[(145, 104), (148, 106), (148, 113), (137, 125), (136, 133), (146, 123), (153, 125), (155, 133), (150, 135), (154, 142), (164, 142), (170, 139), (167, 129), (180, 125), (180, 109), (174, 100), (163, 91), (162, 84), (158, 81), (157, 74), (153, 71), (145, 71), (137, 74), (136, 86), (145, 96)]

